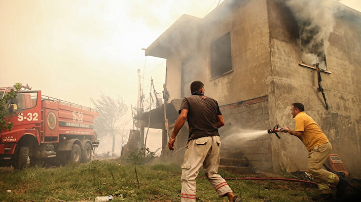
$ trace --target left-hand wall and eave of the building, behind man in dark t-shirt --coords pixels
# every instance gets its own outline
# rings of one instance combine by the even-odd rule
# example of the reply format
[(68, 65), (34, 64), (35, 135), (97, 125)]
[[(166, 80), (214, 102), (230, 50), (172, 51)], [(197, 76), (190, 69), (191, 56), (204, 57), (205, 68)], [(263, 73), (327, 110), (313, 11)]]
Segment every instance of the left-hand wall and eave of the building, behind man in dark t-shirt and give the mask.
[[(231, 70), (212, 75), (211, 47), (227, 34), (231, 61), (226, 62), (232, 64)], [(189, 96), (191, 82), (202, 80), (206, 95), (218, 100), (221, 106), (226, 120), (226, 126), (220, 131), (224, 140), (237, 135), (239, 129), (270, 127), (267, 96), (271, 90), (271, 69), (266, 1), (228, 1), (204, 19), (184, 15), (146, 54), (167, 58), (166, 85), (170, 100)], [(263, 100), (258, 99), (260, 97)], [(178, 135), (175, 150), (184, 147), (187, 137), (187, 132)], [(223, 157), (244, 155), (255, 168), (272, 169), (270, 136), (236, 145), (231, 144), (232, 139), (229, 141), (228, 144), (223, 141)]]

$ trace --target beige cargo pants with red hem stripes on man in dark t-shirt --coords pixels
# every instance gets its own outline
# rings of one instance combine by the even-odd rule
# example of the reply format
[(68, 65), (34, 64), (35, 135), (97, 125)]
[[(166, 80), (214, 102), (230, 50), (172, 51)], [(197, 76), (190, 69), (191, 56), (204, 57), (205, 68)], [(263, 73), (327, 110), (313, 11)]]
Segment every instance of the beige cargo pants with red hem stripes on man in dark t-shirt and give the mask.
[(182, 164), (182, 202), (196, 201), (196, 177), (201, 166), (219, 197), (232, 192), (226, 180), (217, 174), (220, 165), (220, 147), (220, 136), (201, 137), (187, 142)]

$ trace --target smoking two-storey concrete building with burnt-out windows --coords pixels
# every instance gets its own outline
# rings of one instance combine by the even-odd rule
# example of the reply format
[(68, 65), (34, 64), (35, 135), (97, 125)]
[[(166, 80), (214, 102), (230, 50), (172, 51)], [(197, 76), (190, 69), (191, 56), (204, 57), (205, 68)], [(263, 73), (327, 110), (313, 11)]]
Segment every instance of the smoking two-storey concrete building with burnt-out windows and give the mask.
[[(300, 20), (281, 0), (226, 0), (204, 18), (183, 15), (146, 55), (167, 59), (169, 100), (189, 96), (194, 80), (201, 80), (205, 94), (218, 100), (226, 121), (222, 156), (244, 156), (258, 170), (306, 170), (308, 152), (295, 136), (247, 139), (257, 135), (253, 130), (276, 124), (294, 128), (291, 104), (302, 102), (350, 176), (361, 177), (361, 14), (332, 2), (333, 30), (318, 41), (321, 49), (314, 53), (323, 65), (321, 87), (327, 100), (319, 92), (314, 64), (304, 64), (310, 38), (301, 36), (310, 22)], [(187, 140), (183, 130), (176, 150)], [(167, 149), (166, 133), (163, 138)], [(166, 149), (164, 154), (170, 152)]]

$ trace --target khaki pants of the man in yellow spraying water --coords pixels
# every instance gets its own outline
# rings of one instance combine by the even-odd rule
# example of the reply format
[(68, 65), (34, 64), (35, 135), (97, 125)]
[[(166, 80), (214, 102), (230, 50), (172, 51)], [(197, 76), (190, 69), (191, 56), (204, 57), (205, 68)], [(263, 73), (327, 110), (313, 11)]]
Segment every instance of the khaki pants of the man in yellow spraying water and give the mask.
[(331, 154), (332, 145), (330, 142), (315, 146), (308, 153), (307, 171), (312, 176), (313, 181), (317, 183), (320, 193), (332, 193), (327, 183), (338, 184), (340, 178), (324, 169), (323, 163)]

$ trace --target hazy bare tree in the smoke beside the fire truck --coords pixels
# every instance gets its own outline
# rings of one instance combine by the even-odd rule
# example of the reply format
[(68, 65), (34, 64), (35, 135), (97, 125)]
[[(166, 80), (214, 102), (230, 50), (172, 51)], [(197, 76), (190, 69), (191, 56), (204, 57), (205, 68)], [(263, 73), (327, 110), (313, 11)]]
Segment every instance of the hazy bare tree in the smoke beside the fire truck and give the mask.
[(99, 137), (110, 136), (112, 138), (112, 152), (114, 152), (115, 138), (118, 133), (115, 126), (128, 110), (128, 107), (119, 95), (117, 99), (114, 100), (109, 96), (105, 96), (102, 92), (100, 93), (99, 99), (91, 99), (95, 109), (99, 113), (99, 116), (94, 119), (94, 130)]

